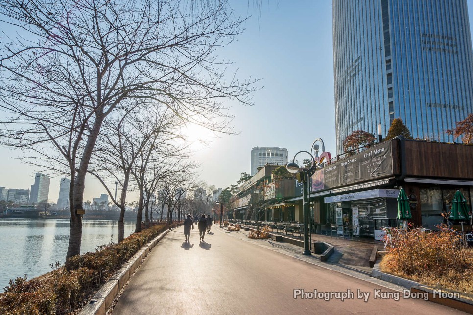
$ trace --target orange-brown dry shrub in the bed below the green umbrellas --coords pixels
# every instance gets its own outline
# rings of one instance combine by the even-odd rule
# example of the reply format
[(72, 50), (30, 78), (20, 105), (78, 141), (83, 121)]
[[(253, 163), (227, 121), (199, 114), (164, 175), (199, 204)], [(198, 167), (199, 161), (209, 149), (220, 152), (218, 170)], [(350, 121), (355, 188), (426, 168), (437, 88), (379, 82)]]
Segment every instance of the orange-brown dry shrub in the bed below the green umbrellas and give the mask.
[(432, 286), (473, 294), (473, 249), (445, 226), (433, 233), (393, 229), (394, 247), (381, 261), (381, 270)]

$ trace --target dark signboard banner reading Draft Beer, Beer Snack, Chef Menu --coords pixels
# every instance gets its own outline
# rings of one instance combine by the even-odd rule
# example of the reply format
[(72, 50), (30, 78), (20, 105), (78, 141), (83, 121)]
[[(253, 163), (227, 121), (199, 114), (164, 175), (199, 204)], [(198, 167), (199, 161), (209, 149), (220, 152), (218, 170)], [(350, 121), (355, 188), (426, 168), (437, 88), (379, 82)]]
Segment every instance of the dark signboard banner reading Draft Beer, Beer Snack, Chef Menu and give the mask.
[(317, 170), (312, 176), (312, 191), (330, 189), (393, 174), (391, 141)]

